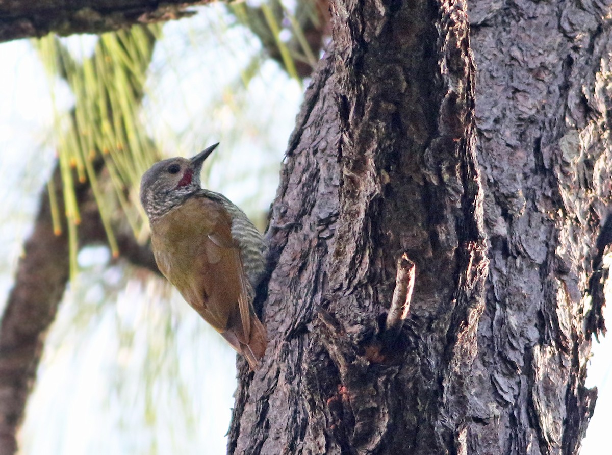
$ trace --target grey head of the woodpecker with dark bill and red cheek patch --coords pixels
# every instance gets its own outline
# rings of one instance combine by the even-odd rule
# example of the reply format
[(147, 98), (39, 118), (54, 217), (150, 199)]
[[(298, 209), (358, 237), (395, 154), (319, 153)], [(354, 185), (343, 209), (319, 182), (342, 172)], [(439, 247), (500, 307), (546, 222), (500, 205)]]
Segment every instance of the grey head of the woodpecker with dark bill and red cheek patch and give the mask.
[(200, 172), (204, 160), (218, 146), (211, 145), (192, 159), (170, 158), (155, 163), (140, 181), (140, 202), (153, 221), (180, 205), (200, 189)]

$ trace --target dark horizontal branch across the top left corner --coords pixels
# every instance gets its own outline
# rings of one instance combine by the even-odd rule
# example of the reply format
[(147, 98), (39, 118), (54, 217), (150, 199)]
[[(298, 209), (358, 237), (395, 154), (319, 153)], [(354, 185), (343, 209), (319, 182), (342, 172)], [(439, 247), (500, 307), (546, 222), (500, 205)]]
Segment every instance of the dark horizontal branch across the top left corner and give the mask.
[(195, 14), (189, 6), (211, 0), (12, 0), (0, 2), (0, 42), (42, 37), (102, 33), (135, 24), (151, 24)]

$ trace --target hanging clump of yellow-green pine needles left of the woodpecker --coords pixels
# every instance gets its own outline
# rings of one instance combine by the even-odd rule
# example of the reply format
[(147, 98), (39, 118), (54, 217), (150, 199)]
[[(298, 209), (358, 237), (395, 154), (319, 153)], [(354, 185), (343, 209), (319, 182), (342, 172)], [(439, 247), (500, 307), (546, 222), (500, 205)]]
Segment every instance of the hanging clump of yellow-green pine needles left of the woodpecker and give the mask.
[[(140, 120), (141, 105), (147, 69), (160, 31), (159, 25), (135, 26), (102, 34), (92, 55), (81, 61), (73, 58), (56, 36), (34, 42), (50, 77), (67, 82), (75, 99), (72, 110), (56, 113), (55, 126), (72, 273), (76, 271), (78, 250), (76, 226), (81, 220), (75, 179), (89, 180), (114, 257), (119, 250), (111, 218), (118, 207), (121, 219), (129, 222), (137, 238), (143, 231), (144, 217), (136, 202), (138, 182), (147, 167), (159, 159), (159, 153), (145, 134)], [(106, 191), (99, 182), (95, 160), (103, 160), (113, 183), (111, 191)], [(51, 187), (53, 181), (49, 185), (54, 229), (59, 235), (61, 214)]]

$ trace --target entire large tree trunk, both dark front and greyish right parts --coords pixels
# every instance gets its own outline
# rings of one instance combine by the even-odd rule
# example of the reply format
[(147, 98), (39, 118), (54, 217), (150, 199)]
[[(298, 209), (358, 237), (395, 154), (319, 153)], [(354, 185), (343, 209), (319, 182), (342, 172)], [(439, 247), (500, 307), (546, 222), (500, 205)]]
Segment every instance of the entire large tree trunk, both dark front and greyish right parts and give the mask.
[(228, 453), (578, 453), (612, 225), (598, 241), (598, 8), (474, 2), (476, 75), (463, 2), (332, 2), (272, 209), (269, 347), (241, 369)]

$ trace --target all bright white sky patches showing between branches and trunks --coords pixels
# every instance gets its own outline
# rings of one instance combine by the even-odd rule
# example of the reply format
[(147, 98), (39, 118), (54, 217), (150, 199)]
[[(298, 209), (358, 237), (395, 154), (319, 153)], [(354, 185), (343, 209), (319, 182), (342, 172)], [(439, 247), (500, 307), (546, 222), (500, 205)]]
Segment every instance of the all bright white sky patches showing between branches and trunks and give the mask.
[[(246, 113), (237, 116), (218, 103), (207, 108), (237, 78), (257, 44), (238, 28), (224, 29), (222, 8), (201, 11), (195, 21), (165, 26), (153, 65), (159, 77), (146, 104), (151, 132), (169, 156), (221, 141), (215, 153), (225, 157), (217, 157), (208, 186), (264, 211), (274, 197), (301, 88), (267, 63), (245, 95)], [(216, 27), (212, 34), (221, 39), (199, 42), (203, 35), (194, 30), (206, 27)], [(87, 47), (91, 39), (75, 42)], [(0, 61), (2, 309), (54, 160), (53, 149), (45, 145), (51, 143), (53, 110), (69, 107), (71, 99), (67, 89), (56, 87), (54, 107), (42, 65), (27, 41), (0, 44)], [(241, 184), (231, 183), (236, 181)], [(123, 269), (106, 267), (107, 258), (103, 249), (79, 257), (85, 270), (51, 330), (21, 453), (225, 453), (235, 388), (233, 351), (176, 293), (157, 281), (125, 279)], [(170, 339), (162, 333), (167, 330), (174, 333)], [(582, 455), (606, 453), (610, 446), (612, 343), (602, 339), (593, 353), (588, 385), (599, 386), (599, 400)]]

